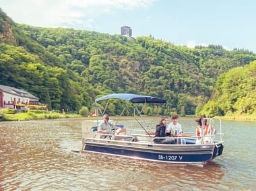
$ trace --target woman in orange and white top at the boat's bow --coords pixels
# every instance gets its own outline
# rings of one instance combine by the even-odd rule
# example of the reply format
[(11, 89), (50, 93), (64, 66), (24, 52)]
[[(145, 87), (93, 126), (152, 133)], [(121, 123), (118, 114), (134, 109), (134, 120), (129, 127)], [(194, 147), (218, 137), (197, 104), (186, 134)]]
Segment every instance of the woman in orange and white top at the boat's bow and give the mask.
[(203, 137), (203, 140), (201, 139), (202, 136), (211, 136), (216, 133), (216, 129), (214, 129), (213, 126), (210, 126), (210, 124), (207, 124), (206, 116), (202, 115), (201, 118), (195, 120), (197, 122), (197, 128), (195, 135), (197, 136), (197, 144), (199, 143), (205, 143), (209, 144), (211, 141), (211, 137)]

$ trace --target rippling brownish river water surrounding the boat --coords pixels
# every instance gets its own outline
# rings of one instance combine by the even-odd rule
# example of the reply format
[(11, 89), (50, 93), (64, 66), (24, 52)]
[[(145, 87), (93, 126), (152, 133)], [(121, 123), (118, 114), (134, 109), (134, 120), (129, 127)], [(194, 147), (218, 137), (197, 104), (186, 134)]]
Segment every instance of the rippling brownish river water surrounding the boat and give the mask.
[[(255, 190), (256, 123), (222, 121), (224, 151), (205, 165), (154, 163), (81, 147), (84, 118), (0, 122), (0, 190)], [(160, 118), (146, 118), (155, 126)], [(180, 118), (183, 131), (195, 118)], [(119, 123), (127, 128), (133, 120)], [(153, 127), (154, 128), (154, 127)]]

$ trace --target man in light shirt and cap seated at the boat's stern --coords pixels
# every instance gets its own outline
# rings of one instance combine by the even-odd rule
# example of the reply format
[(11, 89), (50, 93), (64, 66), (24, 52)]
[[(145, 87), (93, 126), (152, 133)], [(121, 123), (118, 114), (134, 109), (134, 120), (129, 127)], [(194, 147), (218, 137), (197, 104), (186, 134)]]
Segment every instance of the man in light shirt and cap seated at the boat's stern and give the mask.
[[(117, 132), (117, 135), (119, 135), (119, 133), (124, 132), (125, 135), (127, 133), (125, 128), (119, 128), (117, 126), (115, 126), (114, 123), (108, 122), (109, 120), (109, 116), (108, 114), (104, 114), (103, 116), (103, 121), (98, 124), (98, 132), (101, 134), (113, 134), (113, 130), (115, 130)], [(105, 139), (107, 136), (106, 135), (102, 135), (100, 136), (101, 139)]]

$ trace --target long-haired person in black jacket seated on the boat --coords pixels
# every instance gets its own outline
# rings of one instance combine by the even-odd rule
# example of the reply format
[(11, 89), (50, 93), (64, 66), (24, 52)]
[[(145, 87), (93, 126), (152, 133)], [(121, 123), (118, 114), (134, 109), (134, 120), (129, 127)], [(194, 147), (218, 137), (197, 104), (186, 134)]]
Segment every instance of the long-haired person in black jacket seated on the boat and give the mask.
[[(156, 135), (155, 137), (166, 137), (166, 126), (168, 124), (168, 117), (163, 116), (160, 123), (156, 125)], [(154, 139), (154, 143), (160, 144), (172, 144), (173, 140), (170, 139)]]

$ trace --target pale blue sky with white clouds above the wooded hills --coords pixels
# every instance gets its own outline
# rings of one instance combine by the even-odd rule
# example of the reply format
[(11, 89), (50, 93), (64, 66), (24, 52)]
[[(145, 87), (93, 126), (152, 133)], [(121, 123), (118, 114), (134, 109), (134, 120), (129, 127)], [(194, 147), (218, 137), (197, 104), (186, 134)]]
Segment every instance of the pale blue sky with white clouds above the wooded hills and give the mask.
[(255, 0), (0, 0), (14, 22), (133, 37), (174, 45), (221, 45), (256, 53)]

